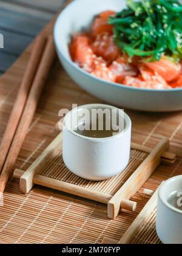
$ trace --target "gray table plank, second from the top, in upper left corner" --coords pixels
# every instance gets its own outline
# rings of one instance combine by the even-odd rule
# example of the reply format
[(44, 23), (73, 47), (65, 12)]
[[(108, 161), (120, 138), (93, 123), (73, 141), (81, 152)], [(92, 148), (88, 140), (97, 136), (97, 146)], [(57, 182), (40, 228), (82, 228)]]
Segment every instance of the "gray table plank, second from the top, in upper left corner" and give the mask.
[(42, 19), (24, 13), (0, 8), (0, 29), (35, 36), (47, 24), (49, 19)]

